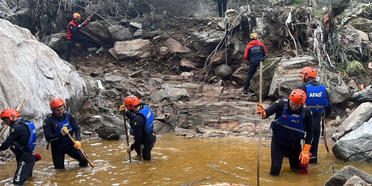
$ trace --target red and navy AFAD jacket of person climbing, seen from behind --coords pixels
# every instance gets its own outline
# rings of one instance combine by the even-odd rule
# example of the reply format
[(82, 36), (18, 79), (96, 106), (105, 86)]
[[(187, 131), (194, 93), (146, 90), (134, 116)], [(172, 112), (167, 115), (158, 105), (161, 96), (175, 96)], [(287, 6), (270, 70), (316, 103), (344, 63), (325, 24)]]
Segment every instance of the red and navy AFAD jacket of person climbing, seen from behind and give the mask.
[(249, 62), (263, 61), (266, 56), (266, 49), (262, 42), (253, 39), (248, 43), (244, 52), (244, 59)]

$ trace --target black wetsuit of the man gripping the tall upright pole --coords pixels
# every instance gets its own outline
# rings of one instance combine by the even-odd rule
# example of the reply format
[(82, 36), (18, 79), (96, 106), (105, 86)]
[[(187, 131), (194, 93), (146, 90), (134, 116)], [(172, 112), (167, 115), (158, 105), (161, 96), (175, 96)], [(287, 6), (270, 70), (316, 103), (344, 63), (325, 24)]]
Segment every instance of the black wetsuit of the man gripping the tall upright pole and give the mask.
[[(275, 119), (278, 119), (284, 109), (284, 101), (283, 99), (279, 99), (276, 102), (274, 102), (272, 105), (269, 106), (269, 108), (265, 109), (266, 118), (273, 115), (275, 113)], [(301, 115), (302, 114), (302, 107), (297, 110), (292, 110), (291, 106), (289, 105), (288, 100), (288, 114), (290, 115)], [(311, 145), (311, 141), (314, 135), (314, 129), (313, 129), (313, 121), (312, 121), (312, 114), (310, 108), (306, 108), (305, 112), (305, 119), (303, 120), (303, 126), (306, 131), (306, 137), (305, 137), (305, 144)], [(271, 169), (270, 169), (270, 175), (277, 176), (280, 173), (280, 170), (282, 169), (282, 163), (283, 158), (288, 157), (289, 158), (289, 166), (291, 170), (299, 170), (299, 154), (301, 153), (301, 140), (295, 143), (295, 145), (285, 145), (280, 144), (276, 138), (275, 135), (273, 135), (271, 139)]]

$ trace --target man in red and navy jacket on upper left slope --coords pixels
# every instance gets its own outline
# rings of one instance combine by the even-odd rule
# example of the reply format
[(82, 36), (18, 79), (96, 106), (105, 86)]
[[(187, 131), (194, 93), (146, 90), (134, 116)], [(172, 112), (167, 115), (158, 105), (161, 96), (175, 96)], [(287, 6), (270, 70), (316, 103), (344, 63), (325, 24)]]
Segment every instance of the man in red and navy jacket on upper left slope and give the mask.
[(71, 22), (68, 23), (68, 26), (67, 26), (67, 35), (66, 35), (67, 52), (66, 52), (66, 58), (65, 58), (65, 61), (67, 61), (67, 62), (70, 62), (71, 51), (74, 48), (75, 41), (83, 42), (83, 46), (84, 46), (83, 55), (85, 55), (87, 57), (92, 56), (88, 52), (88, 40), (87, 40), (87, 38), (84, 38), (83, 36), (78, 35), (80, 27), (81, 26), (87, 26), (89, 21), (90, 21), (90, 17), (88, 18), (88, 20), (83, 25), (81, 25), (81, 23), (83, 23), (83, 21), (81, 20), (80, 14), (74, 13), (74, 15), (72, 17), (73, 17), (73, 20), (71, 20)]

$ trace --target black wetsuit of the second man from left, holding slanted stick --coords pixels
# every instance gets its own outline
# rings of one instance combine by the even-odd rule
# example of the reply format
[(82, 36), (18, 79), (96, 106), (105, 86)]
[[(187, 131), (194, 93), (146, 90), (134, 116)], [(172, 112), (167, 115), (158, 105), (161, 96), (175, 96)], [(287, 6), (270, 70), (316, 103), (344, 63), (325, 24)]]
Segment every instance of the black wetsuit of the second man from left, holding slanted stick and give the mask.
[(72, 130), (69, 131), (71, 137), (76, 135), (76, 141), (81, 141), (81, 131), (75, 116), (71, 113), (64, 112), (61, 117), (54, 114), (48, 115), (43, 123), (45, 139), (51, 143), (52, 159), (55, 169), (64, 169), (65, 154), (79, 161), (79, 166), (87, 166), (88, 162), (81, 154), (80, 150), (74, 148), (73, 142), (68, 138), (68, 135), (62, 136), (60, 129), (57, 128), (58, 123), (65, 121), (67, 117), (68, 123), (71, 125)]

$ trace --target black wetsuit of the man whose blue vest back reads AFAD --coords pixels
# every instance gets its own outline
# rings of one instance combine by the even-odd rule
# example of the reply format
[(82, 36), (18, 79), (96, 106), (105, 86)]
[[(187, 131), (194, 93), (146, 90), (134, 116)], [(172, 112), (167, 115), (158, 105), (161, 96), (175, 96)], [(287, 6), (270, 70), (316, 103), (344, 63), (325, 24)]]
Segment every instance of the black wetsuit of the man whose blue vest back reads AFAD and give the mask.
[[(311, 86), (319, 86), (318, 82), (314, 80), (308, 80), (307, 83), (310, 84)], [(307, 93), (306, 87), (304, 84), (298, 86), (296, 89), (304, 90), (305, 93)], [(328, 100), (328, 106), (325, 108), (324, 111), (325, 111), (325, 116), (328, 117), (332, 113), (332, 105), (331, 105), (331, 100), (329, 99), (327, 90), (325, 90), (325, 96), (327, 97), (327, 100)], [(311, 143), (311, 148), (310, 148), (311, 157), (310, 157), (309, 162), (317, 163), (318, 162), (318, 145), (319, 145), (319, 138), (320, 138), (320, 131), (321, 131), (320, 122), (321, 122), (322, 115), (321, 113), (319, 114), (313, 113), (312, 118), (314, 121), (314, 124), (313, 124), (314, 125), (314, 139), (312, 140), (312, 143)]]

